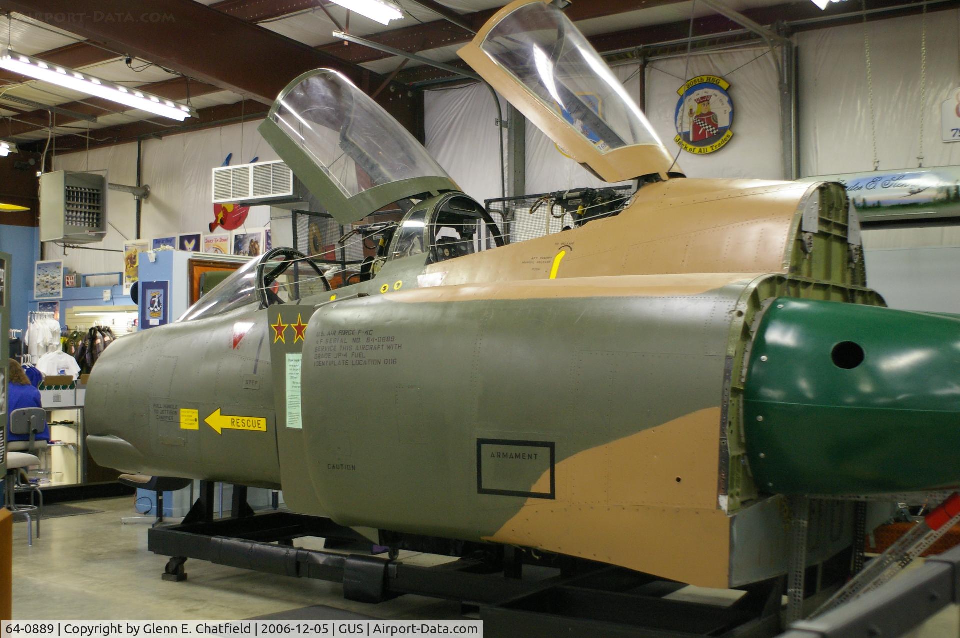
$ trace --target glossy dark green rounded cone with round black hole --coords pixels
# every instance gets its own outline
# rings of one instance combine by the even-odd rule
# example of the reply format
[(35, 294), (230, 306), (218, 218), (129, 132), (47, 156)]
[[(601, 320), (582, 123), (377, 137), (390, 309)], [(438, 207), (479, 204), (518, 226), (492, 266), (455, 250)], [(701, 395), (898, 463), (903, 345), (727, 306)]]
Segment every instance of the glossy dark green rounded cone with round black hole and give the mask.
[(960, 485), (960, 316), (775, 299), (750, 352), (744, 430), (764, 491)]

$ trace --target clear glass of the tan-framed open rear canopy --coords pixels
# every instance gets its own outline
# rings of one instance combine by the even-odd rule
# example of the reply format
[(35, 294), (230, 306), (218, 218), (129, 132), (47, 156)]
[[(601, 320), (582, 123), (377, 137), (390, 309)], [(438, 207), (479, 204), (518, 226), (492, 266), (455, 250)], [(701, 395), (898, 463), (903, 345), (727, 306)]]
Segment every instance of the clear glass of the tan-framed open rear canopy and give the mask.
[(661, 144), (607, 63), (555, 6), (518, 7), (480, 48), (601, 153)]

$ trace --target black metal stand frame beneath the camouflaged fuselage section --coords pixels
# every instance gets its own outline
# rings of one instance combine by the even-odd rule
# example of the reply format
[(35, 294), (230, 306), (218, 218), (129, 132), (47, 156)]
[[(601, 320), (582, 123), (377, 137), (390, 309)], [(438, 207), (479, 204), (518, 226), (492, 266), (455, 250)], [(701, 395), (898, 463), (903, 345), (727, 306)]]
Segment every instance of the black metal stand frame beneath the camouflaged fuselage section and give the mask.
[[(381, 532), (380, 542), (389, 542), (392, 548), (427, 543), (420, 545), (423, 548), (443, 541), (437, 542), (437, 551), (470, 556), (434, 566), (415, 565), (371, 555), (382, 548), (326, 517), (284, 510), (249, 515), (244, 492), (234, 485), (233, 508), (248, 515), (215, 519), (213, 483), (204, 481), (200, 498), (182, 523), (148, 532), (148, 549), (171, 556), (163, 579), (186, 579), (186, 560), (200, 558), (270, 574), (343, 582), (345, 597), (353, 601), (379, 603), (401, 594), (461, 601), (480, 606), (491, 635), (769, 638), (779, 631), (780, 579), (743, 587), (743, 595), (732, 604), (690, 603), (665, 598), (683, 583), (620, 567), (497, 546), (479, 556), (475, 548), (441, 549), (459, 547), (445, 539)], [(335, 549), (295, 547), (294, 539), (302, 536), (324, 537), (326, 547)]]

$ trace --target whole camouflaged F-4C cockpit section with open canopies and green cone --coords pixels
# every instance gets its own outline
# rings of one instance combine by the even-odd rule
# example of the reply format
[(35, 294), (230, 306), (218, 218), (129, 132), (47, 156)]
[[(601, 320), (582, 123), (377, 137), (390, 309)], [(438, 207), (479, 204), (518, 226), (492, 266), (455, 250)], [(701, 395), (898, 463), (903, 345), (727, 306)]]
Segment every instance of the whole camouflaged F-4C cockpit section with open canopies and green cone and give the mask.
[(505, 243), (368, 96), (305, 74), (263, 136), (341, 224), (395, 202), (402, 221), (355, 283), (277, 248), (111, 345), (86, 395), (98, 462), (282, 487), (384, 544), (709, 587), (786, 572), (795, 495), (833, 499), (809, 517), (814, 562), (851, 545), (836, 497), (960, 484), (960, 319), (884, 307), (841, 185), (673, 172), (542, 0), (460, 55), (597, 177), (636, 180), (622, 210)]

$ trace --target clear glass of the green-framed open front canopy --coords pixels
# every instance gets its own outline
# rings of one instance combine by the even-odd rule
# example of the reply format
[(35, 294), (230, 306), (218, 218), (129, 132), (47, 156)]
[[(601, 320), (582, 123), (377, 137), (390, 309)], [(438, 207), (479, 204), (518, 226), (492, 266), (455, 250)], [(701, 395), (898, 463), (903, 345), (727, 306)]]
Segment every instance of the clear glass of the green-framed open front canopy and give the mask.
[(412, 177), (447, 177), (420, 142), (336, 71), (280, 96), (271, 118), (350, 198)]

